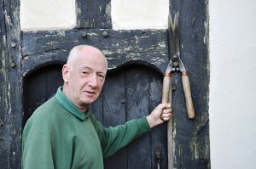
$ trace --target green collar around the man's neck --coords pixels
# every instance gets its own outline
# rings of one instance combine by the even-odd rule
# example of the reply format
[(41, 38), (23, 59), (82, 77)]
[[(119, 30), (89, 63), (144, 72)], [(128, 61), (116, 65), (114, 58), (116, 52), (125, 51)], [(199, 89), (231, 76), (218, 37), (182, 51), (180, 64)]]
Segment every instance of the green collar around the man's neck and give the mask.
[(81, 121), (84, 121), (89, 115), (90, 110), (87, 109), (85, 113), (83, 113), (79, 108), (73, 104), (67, 96), (62, 92), (62, 87), (59, 87), (57, 92), (55, 93), (55, 99), (60, 102), (60, 104), (71, 114), (78, 117)]

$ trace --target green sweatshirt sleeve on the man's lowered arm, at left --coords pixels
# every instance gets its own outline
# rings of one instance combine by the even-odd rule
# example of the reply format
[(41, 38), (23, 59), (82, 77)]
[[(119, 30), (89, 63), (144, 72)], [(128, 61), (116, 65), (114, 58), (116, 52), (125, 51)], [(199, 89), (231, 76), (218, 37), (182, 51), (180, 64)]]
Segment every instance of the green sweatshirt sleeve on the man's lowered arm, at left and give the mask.
[[(22, 135), (22, 169), (54, 169), (50, 125), (30, 119)], [(43, 148), (43, 149), (42, 149)]]

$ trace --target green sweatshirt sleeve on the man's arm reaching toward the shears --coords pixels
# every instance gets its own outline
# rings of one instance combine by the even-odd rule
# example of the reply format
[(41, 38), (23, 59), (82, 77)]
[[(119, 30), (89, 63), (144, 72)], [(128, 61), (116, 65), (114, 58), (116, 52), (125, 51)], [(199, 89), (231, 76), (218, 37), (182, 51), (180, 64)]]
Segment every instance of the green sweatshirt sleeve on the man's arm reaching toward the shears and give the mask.
[(132, 140), (150, 130), (145, 116), (127, 121), (125, 125), (107, 128), (103, 127), (101, 122), (96, 121), (93, 115), (91, 120), (100, 138), (104, 158), (113, 155), (117, 150), (123, 148)]

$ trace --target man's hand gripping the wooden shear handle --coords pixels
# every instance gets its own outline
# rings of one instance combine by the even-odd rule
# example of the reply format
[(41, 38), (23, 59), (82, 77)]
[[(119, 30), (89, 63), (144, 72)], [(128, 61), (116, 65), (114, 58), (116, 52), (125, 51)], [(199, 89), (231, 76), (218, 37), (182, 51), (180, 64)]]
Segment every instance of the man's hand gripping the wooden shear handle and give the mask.
[(159, 104), (154, 110), (147, 116), (148, 124), (150, 128), (160, 125), (164, 121), (171, 119), (172, 109), (171, 104)]

